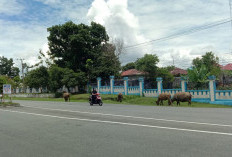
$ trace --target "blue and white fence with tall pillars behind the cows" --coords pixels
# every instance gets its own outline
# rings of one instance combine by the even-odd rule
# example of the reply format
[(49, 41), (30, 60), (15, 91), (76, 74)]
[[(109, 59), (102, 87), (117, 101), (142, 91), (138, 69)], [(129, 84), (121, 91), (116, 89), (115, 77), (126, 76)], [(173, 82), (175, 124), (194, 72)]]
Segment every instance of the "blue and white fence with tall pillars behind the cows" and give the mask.
[[(120, 80), (119, 85), (118, 80), (114, 80), (114, 76), (110, 77), (110, 84), (108, 86), (101, 86), (101, 78), (98, 77), (97, 89), (101, 94), (118, 94), (122, 93), (124, 95), (140, 95), (145, 97), (158, 97), (160, 93), (170, 93), (171, 96), (177, 92), (189, 92), (192, 95), (192, 101), (196, 102), (207, 102), (213, 104), (229, 104), (232, 105), (232, 90), (217, 90), (215, 76), (210, 76), (207, 84), (204, 84), (201, 90), (195, 90), (188, 88), (187, 79), (182, 77), (180, 81), (180, 88), (174, 89), (163, 89), (163, 79), (156, 78), (156, 88), (147, 89), (145, 88), (145, 80), (143, 77), (137, 80), (137, 84), (132, 82), (128, 77), (124, 77)], [(123, 81), (123, 83), (122, 83)], [(133, 80), (134, 81), (134, 80)], [(117, 83), (115, 83), (117, 82)], [(136, 82), (136, 81), (134, 81)], [(130, 86), (133, 85), (133, 86)], [(178, 87), (178, 85), (176, 85)]]

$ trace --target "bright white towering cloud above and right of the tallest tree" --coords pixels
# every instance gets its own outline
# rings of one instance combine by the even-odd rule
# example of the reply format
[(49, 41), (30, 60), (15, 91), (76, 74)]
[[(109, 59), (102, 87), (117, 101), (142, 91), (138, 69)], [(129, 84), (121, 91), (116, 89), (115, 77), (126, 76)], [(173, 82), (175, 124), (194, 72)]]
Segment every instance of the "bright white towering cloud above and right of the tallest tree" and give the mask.
[[(111, 38), (119, 38), (125, 45), (132, 45), (145, 42), (146, 39), (139, 30), (138, 18), (128, 10), (127, 0), (95, 0), (88, 11), (87, 17), (90, 21), (95, 21), (106, 27)], [(148, 46), (147, 49), (151, 49)], [(142, 57), (147, 49), (138, 48), (133, 52), (121, 57), (122, 62), (133, 61)]]

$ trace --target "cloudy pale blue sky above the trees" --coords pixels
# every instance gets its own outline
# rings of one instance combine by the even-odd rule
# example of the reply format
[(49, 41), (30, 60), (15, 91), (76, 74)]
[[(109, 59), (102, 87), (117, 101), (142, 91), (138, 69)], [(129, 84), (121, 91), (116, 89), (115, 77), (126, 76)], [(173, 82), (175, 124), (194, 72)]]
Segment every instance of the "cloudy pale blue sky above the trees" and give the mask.
[(13, 58), (16, 66), (19, 58), (32, 65), (40, 49), (48, 50), (48, 27), (95, 21), (105, 26), (110, 40), (124, 42), (122, 64), (147, 53), (159, 57), (159, 66), (185, 69), (192, 59), (212, 51), (225, 65), (232, 63), (230, 22), (156, 39), (229, 18), (229, 0), (0, 0), (0, 56)]

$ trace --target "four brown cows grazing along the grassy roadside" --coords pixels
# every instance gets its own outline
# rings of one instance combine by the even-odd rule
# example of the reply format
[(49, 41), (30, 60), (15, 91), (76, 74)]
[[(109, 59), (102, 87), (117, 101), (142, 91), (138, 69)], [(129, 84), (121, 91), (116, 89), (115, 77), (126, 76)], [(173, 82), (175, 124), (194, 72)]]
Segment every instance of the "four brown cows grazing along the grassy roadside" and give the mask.
[[(63, 98), (66, 102), (70, 101), (70, 94), (67, 92), (64, 92)], [(188, 102), (188, 105), (191, 105), (191, 99), (192, 99), (192, 95), (188, 92), (178, 92), (174, 94), (172, 98), (171, 98), (170, 93), (162, 93), (162, 94), (159, 94), (156, 104), (163, 105), (163, 101), (167, 100), (168, 105), (172, 105), (172, 103), (175, 101), (177, 102), (177, 105), (180, 105), (180, 102)], [(123, 94), (119, 93), (117, 97), (117, 101), (122, 102), (122, 100), (123, 100)]]

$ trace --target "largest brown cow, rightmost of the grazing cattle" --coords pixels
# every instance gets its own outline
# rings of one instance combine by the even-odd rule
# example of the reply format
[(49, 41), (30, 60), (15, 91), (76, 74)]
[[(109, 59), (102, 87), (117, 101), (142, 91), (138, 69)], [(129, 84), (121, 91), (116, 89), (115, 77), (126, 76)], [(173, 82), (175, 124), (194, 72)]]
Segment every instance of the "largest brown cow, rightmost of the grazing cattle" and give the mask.
[(176, 93), (173, 98), (172, 102), (176, 101), (177, 105), (180, 105), (180, 102), (188, 102), (188, 105), (191, 105), (192, 95), (188, 92), (178, 92)]

